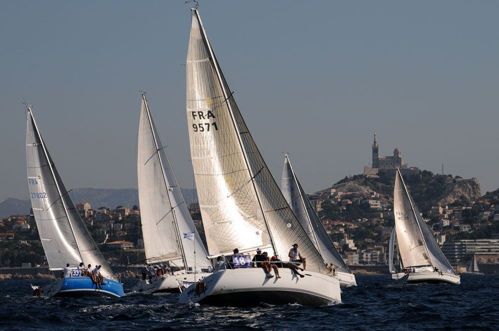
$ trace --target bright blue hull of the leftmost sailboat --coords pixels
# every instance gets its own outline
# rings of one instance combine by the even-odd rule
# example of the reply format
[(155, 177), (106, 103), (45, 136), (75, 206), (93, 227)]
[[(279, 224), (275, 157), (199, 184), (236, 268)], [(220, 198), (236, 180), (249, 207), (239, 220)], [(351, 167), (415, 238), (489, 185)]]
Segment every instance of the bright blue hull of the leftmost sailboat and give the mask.
[(40, 297), (81, 297), (87, 295), (105, 297), (124, 297), (123, 285), (115, 280), (104, 278), (104, 285), (99, 289), (90, 277), (66, 277), (40, 286), (35, 295)]

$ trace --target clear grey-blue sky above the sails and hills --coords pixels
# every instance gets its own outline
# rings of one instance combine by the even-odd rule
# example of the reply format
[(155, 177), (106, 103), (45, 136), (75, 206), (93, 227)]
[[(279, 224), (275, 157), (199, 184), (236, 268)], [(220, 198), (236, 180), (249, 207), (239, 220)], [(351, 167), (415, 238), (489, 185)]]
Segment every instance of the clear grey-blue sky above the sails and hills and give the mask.
[[(25, 109), (68, 189), (137, 187), (140, 90), (180, 184), (190, 5), (1, 1), (0, 201), (28, 198)], [(380, 155), (499, 187), (498, 1), (200, 1), (208, 36), (270, 171), (307, 192)]]

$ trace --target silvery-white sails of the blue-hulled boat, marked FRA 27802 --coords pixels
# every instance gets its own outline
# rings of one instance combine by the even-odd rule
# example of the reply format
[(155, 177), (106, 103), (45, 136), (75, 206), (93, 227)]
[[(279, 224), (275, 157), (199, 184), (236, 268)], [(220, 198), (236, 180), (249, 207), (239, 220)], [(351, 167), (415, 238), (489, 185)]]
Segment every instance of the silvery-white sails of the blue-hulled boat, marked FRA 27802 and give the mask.
[(65, 267), (66, 263), (72, 267), (80, 262), (92, 267), (100, 264), (101, 273), (109, 278), (112, 270), (62, 183), (31, 106), (27, 106), (26, 164), (33, 215), (49, 267), (55, 270)]

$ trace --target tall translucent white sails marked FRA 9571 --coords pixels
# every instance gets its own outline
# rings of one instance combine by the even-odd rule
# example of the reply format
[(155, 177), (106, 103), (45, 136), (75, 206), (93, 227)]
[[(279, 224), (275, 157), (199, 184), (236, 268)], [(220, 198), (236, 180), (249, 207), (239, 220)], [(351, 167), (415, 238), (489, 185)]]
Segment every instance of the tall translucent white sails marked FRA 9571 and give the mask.
[(295, 242), (307, 269), (328, 273), (261, 158), (194, 9), (187, 55), (187, 119), (208, 250), (231, 254)]

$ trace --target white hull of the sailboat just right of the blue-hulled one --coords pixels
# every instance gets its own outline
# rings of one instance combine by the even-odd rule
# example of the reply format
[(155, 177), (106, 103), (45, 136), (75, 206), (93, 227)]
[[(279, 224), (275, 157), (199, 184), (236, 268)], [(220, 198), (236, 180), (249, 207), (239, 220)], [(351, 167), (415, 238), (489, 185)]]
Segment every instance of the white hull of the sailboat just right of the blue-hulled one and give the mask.
[(184, 270), (176, 271), (173, 275), (153, 276), (151, 279), (140, 280), (132, 288), (133, 292), (151, 294), (157, 292), (179, 292), (179, 283), (177, 281), (194, 282), (199, 281), (211, 273), (188, 274)]

